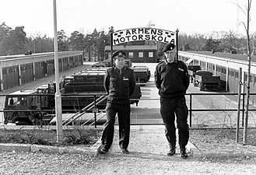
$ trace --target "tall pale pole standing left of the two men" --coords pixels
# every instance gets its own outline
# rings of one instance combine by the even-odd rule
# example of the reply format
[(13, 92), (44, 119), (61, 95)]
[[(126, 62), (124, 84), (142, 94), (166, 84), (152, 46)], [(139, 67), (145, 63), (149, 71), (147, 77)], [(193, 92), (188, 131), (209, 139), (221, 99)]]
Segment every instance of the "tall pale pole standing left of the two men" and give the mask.
[(55, 93), (55, 114), (57, 118), (57, 143), (62, 144), (63, 142), (63, 130), (62, 130), (62, 116), (61, 116), (61, 93), (58, 75), (58, 33), (57, 33), (57, 13), (56, 13), (56, 0), (54, 1), (54, 65), (55, 65), (55, 82), (56, 82), (56, 93)]

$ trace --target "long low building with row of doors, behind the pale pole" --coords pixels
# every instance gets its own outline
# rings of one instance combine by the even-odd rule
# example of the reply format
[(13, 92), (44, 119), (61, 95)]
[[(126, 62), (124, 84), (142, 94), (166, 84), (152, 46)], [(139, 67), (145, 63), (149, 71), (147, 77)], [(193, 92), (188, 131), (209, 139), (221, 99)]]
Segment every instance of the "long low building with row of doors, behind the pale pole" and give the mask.
[[(82, 51), (58, 53), (59, 72), (82, 65)], [(54, 52), (0, 57), (0, 91), (54, 74)]]

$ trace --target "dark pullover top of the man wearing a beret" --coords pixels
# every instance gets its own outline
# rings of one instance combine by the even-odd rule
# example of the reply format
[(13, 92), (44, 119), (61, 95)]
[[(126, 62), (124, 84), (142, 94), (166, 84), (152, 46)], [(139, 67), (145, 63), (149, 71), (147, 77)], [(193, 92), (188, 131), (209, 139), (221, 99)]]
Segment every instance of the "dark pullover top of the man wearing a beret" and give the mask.
[(161, 97), (174, 99), (183, 97), (189, 86), (187, 65), (179, 60), (173, 63), (161, 61), (156, 65), (155, 83)]

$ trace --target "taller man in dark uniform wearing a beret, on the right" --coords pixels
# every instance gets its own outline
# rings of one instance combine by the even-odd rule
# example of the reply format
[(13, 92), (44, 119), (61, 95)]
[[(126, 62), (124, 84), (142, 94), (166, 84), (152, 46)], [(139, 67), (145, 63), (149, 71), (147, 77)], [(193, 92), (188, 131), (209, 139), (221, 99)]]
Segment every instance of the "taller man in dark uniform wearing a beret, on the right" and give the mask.
[(160, 94), (160, 113), (165, 124), (165, 135), (170, 145), (168, 156), (173, 156), (176, 149), (175, 115), (179, 135), (181, 157), (188, 154), (185, 146), (188, 144), (188, 107), (185, 94), (189, 86), (188, 68), (183, 61), (176, 58), (176, 47), (167, 44), (163, 47), (165, 59), (156, 65), (155, 83)]

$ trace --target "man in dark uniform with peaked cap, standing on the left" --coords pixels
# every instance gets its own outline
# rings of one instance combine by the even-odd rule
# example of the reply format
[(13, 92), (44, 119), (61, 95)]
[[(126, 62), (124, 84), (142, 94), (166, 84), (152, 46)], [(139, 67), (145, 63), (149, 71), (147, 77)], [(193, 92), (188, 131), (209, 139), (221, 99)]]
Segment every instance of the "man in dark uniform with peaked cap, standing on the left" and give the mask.
[(115, 66), (109, 68), (104, 77), (104, 88), (107, 96), (107, 123), (103, 129), (101, 138), (101, 154), (106, 154), (112, 145), (114, 138), (114, 121), (118, 115), (119, 145), (124, 154), (128, 153), (130, 137), (130, 96), (135, 89), (135, 73), (124, 66), (124, 51), (116, 51), (112, 55)]

